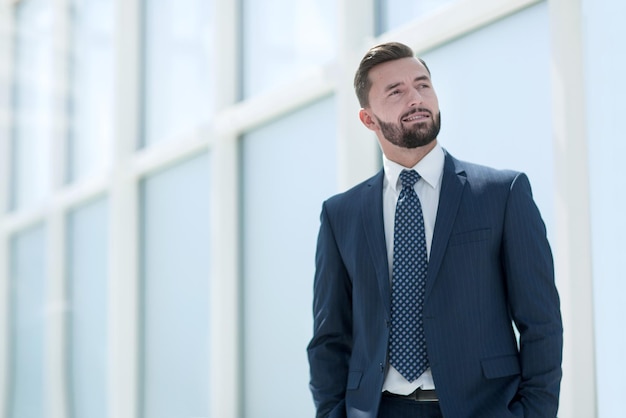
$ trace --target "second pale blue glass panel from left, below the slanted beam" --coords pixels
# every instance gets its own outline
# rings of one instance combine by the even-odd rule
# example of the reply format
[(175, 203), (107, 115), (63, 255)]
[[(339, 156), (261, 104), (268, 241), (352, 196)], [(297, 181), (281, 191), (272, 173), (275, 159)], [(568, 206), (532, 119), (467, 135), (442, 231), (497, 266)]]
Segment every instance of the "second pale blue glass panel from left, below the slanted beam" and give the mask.
[(70, 408), (74, 418), (108, 417), (107, 200), (68, 216)]

